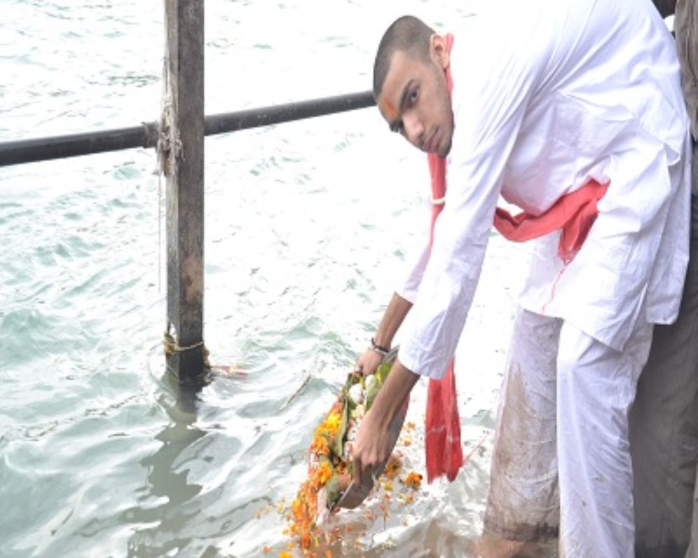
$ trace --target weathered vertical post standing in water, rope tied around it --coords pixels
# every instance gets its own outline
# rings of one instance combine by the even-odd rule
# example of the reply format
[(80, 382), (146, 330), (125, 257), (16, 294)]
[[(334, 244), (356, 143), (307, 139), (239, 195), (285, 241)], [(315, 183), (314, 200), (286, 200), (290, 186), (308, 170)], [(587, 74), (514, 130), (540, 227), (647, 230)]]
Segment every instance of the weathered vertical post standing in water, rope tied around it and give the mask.
[(165, 0), (165, 25), (162, 130), (167, 176), (165, 353), (168, 370), (179, 382), (193, 384), (201, 382), (205, 373), (204, 0)]

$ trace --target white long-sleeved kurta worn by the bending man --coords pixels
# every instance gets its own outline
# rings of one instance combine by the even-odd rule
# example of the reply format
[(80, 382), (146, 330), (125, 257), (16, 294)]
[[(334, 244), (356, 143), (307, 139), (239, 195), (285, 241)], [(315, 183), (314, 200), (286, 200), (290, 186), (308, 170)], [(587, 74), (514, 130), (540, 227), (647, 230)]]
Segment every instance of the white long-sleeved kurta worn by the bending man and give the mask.
[(485, 9), (454, 33), (445, 208), (431, 255), (397, 289), (413, 302), (399, 359), (436, 378), (470, 309), (500, 195), (538, 215), (589, 178), (610, 179), (564, 271), (557, 233), (538, 241), (521, 299), (610, 347), (622, 349), (638, 320), (676, 318), (688, 261), (688, 119), (674, 43), (653, 5)]

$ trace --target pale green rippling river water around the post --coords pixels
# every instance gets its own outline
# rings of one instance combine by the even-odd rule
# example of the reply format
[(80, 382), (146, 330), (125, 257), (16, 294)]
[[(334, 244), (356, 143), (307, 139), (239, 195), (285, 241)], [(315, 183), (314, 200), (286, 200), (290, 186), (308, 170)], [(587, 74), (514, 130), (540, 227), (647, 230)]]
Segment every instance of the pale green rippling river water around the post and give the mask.
[[(207, 113), (364, 91), (394, 17), (467, 14), (377, 4), (207, 1)], [(3, 0), (0, 141), (155, 120), (161, 11)], [(258, 512), (294, 497), (311, 432), (426, 227), (426, 162), (375, 110), (210, 138), (206, 157), (205, 341), (214, 364), (244, 374), (195, 394), (164, 374), (154, 153), (0, 169), (1, 557), (285, 548), (283, 517)], [(509, 250), (493, 239), (459, 348), (466, 454), (493, 426), (518, 280), (501, 273), (516, 269)], [(406, 467), (417, 471), (424, 391), (408, 418)], [(334, 555), (470, 555), (490, 446), (385, 524), (343, 513), (366, 534), (360, 550), (349, 541)]]

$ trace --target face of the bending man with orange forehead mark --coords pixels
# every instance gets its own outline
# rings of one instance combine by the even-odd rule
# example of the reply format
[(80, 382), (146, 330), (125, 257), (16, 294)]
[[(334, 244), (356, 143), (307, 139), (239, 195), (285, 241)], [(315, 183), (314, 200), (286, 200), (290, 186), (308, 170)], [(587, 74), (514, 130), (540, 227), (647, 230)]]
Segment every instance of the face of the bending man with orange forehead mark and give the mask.
[(443, 38), (432, 36), (430, 61), (396, 51), (378, 97), (378, 109), (393, 132), (410, 144), (445, 157), (451, 149), (453, 113), (444, 68)]

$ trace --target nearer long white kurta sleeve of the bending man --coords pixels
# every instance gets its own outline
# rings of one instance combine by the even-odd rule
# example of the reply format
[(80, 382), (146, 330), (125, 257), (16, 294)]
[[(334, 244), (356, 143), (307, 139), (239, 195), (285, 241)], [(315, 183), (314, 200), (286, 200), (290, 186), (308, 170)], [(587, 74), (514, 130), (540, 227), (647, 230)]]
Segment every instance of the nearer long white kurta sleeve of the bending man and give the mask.
[(455, 67), (452, 54), (455, 132), (445, 208), (401, 331), (399, 359), (419, 375), (443, 377), (473, 301), (504, 168), (535, 80), (535, 72), (513, 51), (472, 61), (480, 54), (461, 50), (459, 56), (470, 59)]

